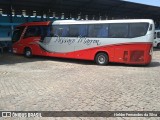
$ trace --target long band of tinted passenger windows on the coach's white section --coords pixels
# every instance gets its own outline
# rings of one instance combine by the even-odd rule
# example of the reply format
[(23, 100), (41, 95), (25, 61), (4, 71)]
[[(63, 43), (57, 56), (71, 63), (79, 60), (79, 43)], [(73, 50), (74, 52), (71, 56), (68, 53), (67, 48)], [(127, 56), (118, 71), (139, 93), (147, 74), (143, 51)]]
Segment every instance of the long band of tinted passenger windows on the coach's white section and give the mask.
[(149, 23), (54, 25), (51, 34), (55, 37), (134, 38), (144, 36), (148, 27)]

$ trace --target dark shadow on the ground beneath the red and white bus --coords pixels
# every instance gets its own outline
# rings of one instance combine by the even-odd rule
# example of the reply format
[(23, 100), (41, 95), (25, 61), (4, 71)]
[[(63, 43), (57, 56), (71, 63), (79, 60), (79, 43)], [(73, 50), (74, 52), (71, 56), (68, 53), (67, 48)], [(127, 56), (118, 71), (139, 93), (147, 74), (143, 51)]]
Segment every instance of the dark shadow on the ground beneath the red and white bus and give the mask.
[[(54, 58), (54, 57), (44, 57), (44, 56), (34, 56), (32, 58), (26, 58), (23, 55), (15, 55), (12, 53), (7, 53), (7, 52), (0, 55), (0, 65), (28, 63), (28, 62), (36, 62), (36, 61), (48, 61), (48, 60), (49, 61), (82, 64), (82, 65), (96, 65), (96, 63), (94, 61), (68, 59), (68, 58)], [(156, 62), (156, 61), (151, 62), (149, 65), (127, 65), (127, 64), (121, 64), (121, 63), (109, 63), (108, 66), (158, 67), (158, 66), (160, 66), (160, 63)]]

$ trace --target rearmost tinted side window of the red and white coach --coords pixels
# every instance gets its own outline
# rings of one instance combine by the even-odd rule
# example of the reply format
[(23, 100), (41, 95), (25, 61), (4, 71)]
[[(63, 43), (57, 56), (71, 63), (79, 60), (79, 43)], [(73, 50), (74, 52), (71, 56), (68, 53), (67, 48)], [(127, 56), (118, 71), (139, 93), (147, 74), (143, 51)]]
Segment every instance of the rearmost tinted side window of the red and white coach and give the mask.
[(129, 37), (140, 37), (144, 36), (148, 30), (148, 23), (131, 23), (129, 29)]

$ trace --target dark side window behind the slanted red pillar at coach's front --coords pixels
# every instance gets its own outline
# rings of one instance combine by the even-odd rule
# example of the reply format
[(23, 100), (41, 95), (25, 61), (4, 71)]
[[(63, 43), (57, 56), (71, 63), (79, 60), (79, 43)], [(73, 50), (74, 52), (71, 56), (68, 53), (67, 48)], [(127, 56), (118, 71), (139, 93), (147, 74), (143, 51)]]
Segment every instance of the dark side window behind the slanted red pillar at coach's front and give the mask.
[(38, 36), (41, 36), (40, 28), (38, 26), (30, 26), (27, 28), (23, 38), (38, 37)]

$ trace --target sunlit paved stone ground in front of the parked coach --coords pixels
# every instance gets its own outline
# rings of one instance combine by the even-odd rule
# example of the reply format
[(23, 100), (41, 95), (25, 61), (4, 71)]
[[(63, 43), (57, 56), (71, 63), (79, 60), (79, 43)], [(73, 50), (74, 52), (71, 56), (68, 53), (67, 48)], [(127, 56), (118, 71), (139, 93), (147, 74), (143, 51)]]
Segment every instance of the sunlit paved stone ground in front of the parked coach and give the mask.
[(152, 63), (145, 67), (0, 56), (0, 111), (158, 111), (159, 101), (160, 50), (154, 51)]

